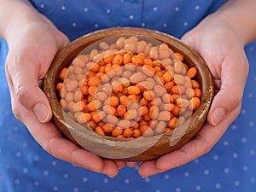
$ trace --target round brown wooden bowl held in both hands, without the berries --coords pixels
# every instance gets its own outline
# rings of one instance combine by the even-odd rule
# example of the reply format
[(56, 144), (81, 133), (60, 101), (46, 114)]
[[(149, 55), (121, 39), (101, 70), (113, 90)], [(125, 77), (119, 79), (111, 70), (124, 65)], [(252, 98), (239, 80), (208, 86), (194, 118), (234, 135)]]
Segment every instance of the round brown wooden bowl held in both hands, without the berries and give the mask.
[[(196, 67), (198, 70), (197, 81), (201, 84), (202, 96), (201, 105), (192, 113), (189, 120), (178, 126), (174, 131), (154, 137), (139, 137), (137, 139), (117, 139), (114, 137), (104, 137), (96, 134), (95, 131), (84, 128), (64, 113), (59, 105), (56, 94), (56, 84), (63, 67), (68, 67), (79, 53), (86, 47), (98, 42), (103, 38), (125, 36), (143, 36), (153, 38), (184, 56), (184, 61), (189, 67)], [(212, 75), (207, 64), (195, 50), (190, 49), (181, 43), (177, 38), (173, 38), (162, 32), (133, 27), (109, 28), (97, 32), (92, 32), (81, 38), (74, 40), (61, 49), (52, 62), (48, 73), (44, 79), (44, 92), (49, 99), (53, 111), (53, 121), (60, 131), (73, 143), (77, 143), (81, 148), (85, 148), (93, 154), (104, 158), (116, 160), (153, 160), (160, 155), (167, 154), (180, 148), (184, 143), (195, 136), (200, 131), (207, 119), (207, 113), (211, 106), (214, 85)]]

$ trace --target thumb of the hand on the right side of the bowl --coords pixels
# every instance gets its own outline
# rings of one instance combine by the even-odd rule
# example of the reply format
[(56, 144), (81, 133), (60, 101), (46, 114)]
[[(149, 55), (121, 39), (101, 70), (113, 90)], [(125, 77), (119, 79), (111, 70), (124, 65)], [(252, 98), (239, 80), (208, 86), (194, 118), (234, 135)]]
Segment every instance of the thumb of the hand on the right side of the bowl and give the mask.
[[(248, 63), (246, 56), (228, 55), (221, 69), (220, 90), (214, 96), (207, 120), (211, 125), (218, 125), (227, 114), (241, 105), (244, 86), (247, 81)], [(239, 110), (236, 113), (238, 115)]]

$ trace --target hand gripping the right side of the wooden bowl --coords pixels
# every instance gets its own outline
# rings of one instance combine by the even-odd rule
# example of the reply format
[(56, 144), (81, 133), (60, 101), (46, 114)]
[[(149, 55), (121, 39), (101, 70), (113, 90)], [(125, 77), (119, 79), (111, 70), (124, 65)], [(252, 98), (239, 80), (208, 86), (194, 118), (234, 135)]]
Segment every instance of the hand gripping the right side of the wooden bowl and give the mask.
[(142, 177), (182, 166), (207, 154), (236, 119), (247, 80), (248, 63), (244, 43), (233, 28), (208, 16), (199, 26), (185, 34), (185, 44), (200, 52), (207, 62), (217, 90), (207, 115), (207, 123), (189, 143), (158, 160), (143, 162)]

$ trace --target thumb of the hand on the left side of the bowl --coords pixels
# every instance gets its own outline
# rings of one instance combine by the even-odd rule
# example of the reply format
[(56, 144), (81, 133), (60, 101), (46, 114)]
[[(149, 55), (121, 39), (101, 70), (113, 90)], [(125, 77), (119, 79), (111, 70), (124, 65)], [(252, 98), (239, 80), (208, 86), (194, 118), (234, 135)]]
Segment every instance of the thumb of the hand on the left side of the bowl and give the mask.
[[(17, 119), (26, 119), (20, 105), (38, 121), (45, 123), (52, 117), (51, 108), (38, 83), (38, 65), (29, 61), (14, 61), (6, 65), (6, 73)], [(18, 103), (17, 103), (18, 102)]]

